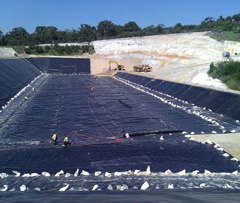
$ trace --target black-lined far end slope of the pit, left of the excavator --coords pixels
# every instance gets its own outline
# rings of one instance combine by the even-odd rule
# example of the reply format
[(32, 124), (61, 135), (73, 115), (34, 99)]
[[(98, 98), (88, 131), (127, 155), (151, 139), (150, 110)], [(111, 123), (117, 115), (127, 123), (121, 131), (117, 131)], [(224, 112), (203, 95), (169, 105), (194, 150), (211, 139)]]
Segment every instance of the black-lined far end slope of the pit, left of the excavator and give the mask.
[(44, 73), (91, 73), (90, 59), (84, 58), (26, 58)]

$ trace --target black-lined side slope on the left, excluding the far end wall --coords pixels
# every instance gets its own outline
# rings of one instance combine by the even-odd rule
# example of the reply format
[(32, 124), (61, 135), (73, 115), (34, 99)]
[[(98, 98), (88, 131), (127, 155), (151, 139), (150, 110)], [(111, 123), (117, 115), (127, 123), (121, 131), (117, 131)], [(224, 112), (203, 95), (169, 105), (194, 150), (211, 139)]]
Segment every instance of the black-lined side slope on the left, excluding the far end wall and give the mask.
[(41, 72), (25, 59), (0, 59), (0, 106)]

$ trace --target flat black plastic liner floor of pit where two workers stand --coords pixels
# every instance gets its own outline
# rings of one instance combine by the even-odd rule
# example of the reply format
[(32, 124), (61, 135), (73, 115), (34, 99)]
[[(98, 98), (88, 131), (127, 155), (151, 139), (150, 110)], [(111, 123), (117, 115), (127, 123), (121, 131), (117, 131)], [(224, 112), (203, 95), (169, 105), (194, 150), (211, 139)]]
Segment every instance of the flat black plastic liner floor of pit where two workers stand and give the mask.
[[(91, 88), (94, 87), (94, 91)], [(128, 108), (121, 101), (131, 106)], [(221, 132), (218, 127), (131, 88), (112, 77), (50, 75), (0, 128), (0, 171), (73, 173), (146, 170), (232, 172), (238, 164), (213, 145), (182, 134), (124, 139), (125, 133), (184, 130)], [(49, 143), (59, 133), (59, 144)], [(71, 147), (63, 148), (68, 135)], [(230, 156), (231, 157), (231, 156)]]

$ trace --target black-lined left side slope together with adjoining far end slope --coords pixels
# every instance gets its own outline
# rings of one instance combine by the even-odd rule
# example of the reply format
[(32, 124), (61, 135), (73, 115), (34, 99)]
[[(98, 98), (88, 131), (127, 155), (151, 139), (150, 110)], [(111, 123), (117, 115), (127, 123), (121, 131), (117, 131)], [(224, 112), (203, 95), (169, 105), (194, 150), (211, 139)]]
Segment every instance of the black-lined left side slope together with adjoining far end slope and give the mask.
[(0, 106), (44, 73), (90, 73), (90, 59), (26, 58), (0, 60)]

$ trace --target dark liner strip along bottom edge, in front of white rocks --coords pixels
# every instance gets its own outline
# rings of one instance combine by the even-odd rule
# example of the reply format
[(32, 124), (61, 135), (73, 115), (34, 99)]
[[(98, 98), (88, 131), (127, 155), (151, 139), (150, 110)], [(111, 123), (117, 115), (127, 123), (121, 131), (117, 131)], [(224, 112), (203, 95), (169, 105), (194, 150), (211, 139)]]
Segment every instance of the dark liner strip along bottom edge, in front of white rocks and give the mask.
[[(56, 184), (56, 182), (54, 182)], [(54, 185), (56, 186), (56, 185)], [(62, 185), (57, 185), (62, 187)], [(114, 189), (115, 189), (115, 185)], [(147, 191), (84, 191), (79, 187), (79, 191), (68, 191), (67, 193), (42, 191), (19, 193), (11, 192), (1, 194), (3, 202), (238, 202), (239, 190), (156, 190)], [(105, 187), (106, 188), (106, 187)], [(104, 189), (105, 189), (104, 188)], [(81, 190), (82, 189), (82, 190)], [(102, 189), (102, 187), (101, 187)], [(91, 189), (89, 189), (91, 190)]]

